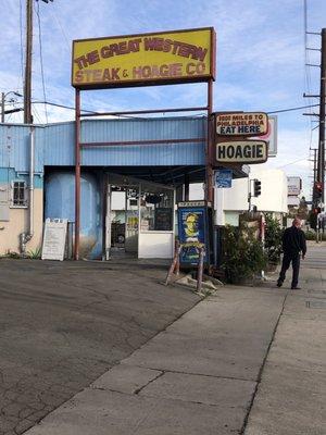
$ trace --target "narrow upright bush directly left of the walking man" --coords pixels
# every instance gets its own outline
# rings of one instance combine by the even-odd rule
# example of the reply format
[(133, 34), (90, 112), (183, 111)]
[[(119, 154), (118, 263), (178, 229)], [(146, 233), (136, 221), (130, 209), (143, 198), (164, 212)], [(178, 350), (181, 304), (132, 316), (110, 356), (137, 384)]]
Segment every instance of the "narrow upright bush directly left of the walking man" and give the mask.
[[(265, 215), (265, 241), (264, 248), (267, 254), (269, 269), (273, 265), (277, 265), (281, 254), (281, 237), (283, 227), (280, 226), (277, 219), (274, 219), (272, 214), (266, 213)], [(272, 268), (271, 268), (272, 265)]]

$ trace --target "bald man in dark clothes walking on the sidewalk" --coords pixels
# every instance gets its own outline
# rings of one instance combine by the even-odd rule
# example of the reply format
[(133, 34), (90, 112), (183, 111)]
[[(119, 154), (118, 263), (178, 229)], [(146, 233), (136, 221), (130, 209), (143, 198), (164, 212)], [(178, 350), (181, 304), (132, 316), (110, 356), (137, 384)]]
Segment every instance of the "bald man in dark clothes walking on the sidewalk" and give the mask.
[(302, 252), (302, 260), (304, 259), (306, 252), (306, 244), (304, 233), (301, 227), (301, 221), (299, 217), (296, 217), (292, 222), (292, 226), (287, 228), (283, 235), (283, 263), (281, 270), (279, 273), (279, 277), (277, 281), (277, 287), (281, 287), (285, 278), (286, 272), (289, 269), (292, 262), (292, 284), (291, 288), (294, 290), (300, 290), (298, 287), (299, 279), (299, 269), (300, 269), (300, 252)]

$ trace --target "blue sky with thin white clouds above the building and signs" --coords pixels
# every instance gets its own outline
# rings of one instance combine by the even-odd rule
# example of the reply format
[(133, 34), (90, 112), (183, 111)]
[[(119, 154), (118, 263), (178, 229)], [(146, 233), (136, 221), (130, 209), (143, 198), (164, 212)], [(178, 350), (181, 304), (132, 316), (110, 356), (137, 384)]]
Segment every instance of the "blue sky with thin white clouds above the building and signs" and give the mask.
[[(321, 32), (326, 27), (326, 1), (306, 3), (308, 29)], [(0, 90), (22, 92), (25, 0), (0, 0)], [(46, 94), (47, 101), (74, 105), (73, 39), (208, 26), (217, 35), (214, 110), (273, 112), (318, 101), (302, 97), (319, 89), (319, 70), (304, 67), (303, 0), (35, 1), (33, 99), (43, 101)], [(319, 44), (319, 36), (308, 37), (309, 47)], [(319, 52), (311, 51), (309, 61), (319, 63)], [(203, 84), (83, 92), (83, 108), (104, 111), (199, 107), (205, 101)], [(302, 176), (309, 192), (309, 149), (317, 146), (317, 129), (311, 133), (316, 124), (303, 112), (309, 109), (278, 114), (278, 156), (266, 165)], [(34, 105), (36, 123), (73, 120), (73, 115), (71, 110), (48, 107), (46, 113), (41, 104)], [(7, 121), (21, 121), (20, 116), (7, 115)]]

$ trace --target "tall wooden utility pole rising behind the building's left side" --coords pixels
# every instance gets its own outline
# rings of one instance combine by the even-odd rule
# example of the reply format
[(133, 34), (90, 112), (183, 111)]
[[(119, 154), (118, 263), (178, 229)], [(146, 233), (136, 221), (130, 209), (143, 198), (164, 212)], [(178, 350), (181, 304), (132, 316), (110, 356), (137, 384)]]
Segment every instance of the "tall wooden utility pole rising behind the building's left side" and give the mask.
[(24, 82), (24, 124), (33, 124), (32, 116), (32, 47), (33, 47), (33, 1), (26, 0), (26, 63)]

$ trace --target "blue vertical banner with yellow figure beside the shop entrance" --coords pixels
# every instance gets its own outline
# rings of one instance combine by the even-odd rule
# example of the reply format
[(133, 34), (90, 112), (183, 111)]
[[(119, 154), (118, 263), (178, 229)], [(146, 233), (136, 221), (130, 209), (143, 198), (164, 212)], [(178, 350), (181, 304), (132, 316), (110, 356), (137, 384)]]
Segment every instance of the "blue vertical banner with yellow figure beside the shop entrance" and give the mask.
[(184, 246), (180, 253), (180, 263), (197, 265), (199, 261), (198, 247), (205, 246), (204, 262), (209, 261), (208, 208), (179, 207), (178, 236)]

